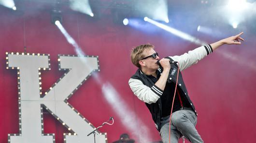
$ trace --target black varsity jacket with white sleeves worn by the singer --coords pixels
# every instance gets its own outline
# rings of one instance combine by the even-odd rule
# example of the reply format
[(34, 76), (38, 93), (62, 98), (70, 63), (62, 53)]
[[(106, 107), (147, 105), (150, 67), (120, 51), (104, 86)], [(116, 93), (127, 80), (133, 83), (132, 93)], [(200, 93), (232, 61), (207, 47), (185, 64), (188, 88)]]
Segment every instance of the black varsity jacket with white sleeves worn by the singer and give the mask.
[[(185, 83), (182, 78), (181, 71), (190, 67), (193, 64), (196, 64), (199, 60), (203, 59), (205, 56), (209, 55), (213, 52), (211, 45), (201, 46), (194, 50), (188, 51), (187, 53), (181, 56), (170, 56), (167, 57), (171, 61), (177, 61), (179, 64), (180, 72), (178, 78), (178, 87), (181, 95), (185, 97), (185, 99), (190, 103), (192, 109), (195, 114), (198, 116), (197, 111), (195, 109), (194, 104), (189, 98), (187, 93)], [(157, 69), (160, 73), (163, 72), (163, 69), (160, 67)], [(167, 82), (176, 83), (177, 80), (177, 72), (178, 65), (171, 64), (171, 70), (169, 72), (169, 76)], [(160, 131), (160, 117), (161, 117), (161, 95), (163, 95), (163, 90), (158, 88), (152, 80), (150, 80), (140, 69), (129, 79), (129, 86), (140, 100), (145, 102), (148, 107), (150, 113), (152, 114), (152, 118), (155, 122), (156, 129)], [(171, 103), (170, 103), (171, 104)]]

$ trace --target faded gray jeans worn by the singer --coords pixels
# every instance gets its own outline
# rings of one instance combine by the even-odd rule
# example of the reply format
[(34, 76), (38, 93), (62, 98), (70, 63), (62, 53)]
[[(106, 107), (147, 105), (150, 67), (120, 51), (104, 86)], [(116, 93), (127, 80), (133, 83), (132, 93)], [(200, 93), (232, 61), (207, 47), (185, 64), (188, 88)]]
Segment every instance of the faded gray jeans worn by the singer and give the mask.
[[(163, 143), (169, 143), (169, 121), (170, 116), (161, 118), (160, 135)], [(197, 117), (191, 108), (176, 111), (171, 115), (171, 143), (178, 143), (183, 135), (191, 143), (203, 143), (195, 126)]]

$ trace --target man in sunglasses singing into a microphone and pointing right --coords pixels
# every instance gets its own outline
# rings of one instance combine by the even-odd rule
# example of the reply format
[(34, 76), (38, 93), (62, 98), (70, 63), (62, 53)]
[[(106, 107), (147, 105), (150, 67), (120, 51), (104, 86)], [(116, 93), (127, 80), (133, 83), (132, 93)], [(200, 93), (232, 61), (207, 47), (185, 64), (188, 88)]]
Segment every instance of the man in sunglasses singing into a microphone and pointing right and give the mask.
[[(203, 143), (195, 128), (198, 114), (188, 96), (182, 74), (178, 72), (178, 65), (180, 71), (183, 71), (224, 44), (239, 45), (240, 40), (244, 41), (241, 35), (242, 33), (201, 46), (181, 56), (163, 59), (158, 57), (154, 46), (150, 44), (132, 49), (131, 61), (139, 69), (129, 79), (129, 86), (151, 112), (163, 143), (169, 143), (169, 121), (176, 82), (177, 91), (171, 115), (171, 143), (178, 143), (183, 135), (191, 143)], [(157, 64), (157, 60), (161, 66)]]

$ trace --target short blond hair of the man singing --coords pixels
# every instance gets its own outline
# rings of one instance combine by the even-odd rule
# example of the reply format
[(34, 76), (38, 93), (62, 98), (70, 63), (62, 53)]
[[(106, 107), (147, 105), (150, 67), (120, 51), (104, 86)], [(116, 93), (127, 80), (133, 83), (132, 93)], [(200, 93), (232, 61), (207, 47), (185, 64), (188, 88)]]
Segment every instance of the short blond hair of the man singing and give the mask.
[(151, 49), (151, 48), (155, 48), (154, 45), (151, 45), (149, 43), (145, 44), (145, 45), (140, 45), (140, 46), (137, 46), (135, 48), (132, 48), (131, 50), (131, 62), (137, 66), (138, 68), (141, 67), (139, 61), (142, 60), (145, 55), (143, 54), (143, 51), (144, 50), (148, 50), (148, 49)]

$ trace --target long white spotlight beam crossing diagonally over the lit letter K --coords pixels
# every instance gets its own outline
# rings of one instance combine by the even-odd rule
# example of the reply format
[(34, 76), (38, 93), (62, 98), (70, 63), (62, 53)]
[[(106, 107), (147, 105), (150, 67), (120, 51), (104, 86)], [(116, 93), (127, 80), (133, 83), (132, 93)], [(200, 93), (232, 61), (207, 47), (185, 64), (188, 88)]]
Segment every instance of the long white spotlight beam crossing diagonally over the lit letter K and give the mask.
[[(55, 21), (55, 24), (61, 33), (66, 37), (67, 41), (75, 48), (76, 53), (80, 56), (85, 55), (75, 40), (62, 26), (62, 24), (59, 21)], [(85, 66), (87, 66), (87, 64), (85, 64)], [(119, 119), (121, 119), (122, 124), (127, 127), (128, 131), (133, 133), (134, 136), (137, 136), (141, 143), (148, 143), (151, 141), (152, 139), (149, 136), (148, 127), (142, 122), (141, 119), (138, 119), (136, 114), (134, 114), (134, 112), (129, 108), (125, 100), (122, 100), (120, 94), (116, 91), (114, 86), (108, 82), (103, 82), (98, 74), (92, 74), (92, 76), (96, 80), (96, 83), (101, 87), (101, 92), (105, 99), (108, 101), (109, 105), (112, 106), (113, 110), (118, 115)], [(137, 128), (138, 124), (140, 125), (139, 129)]]

